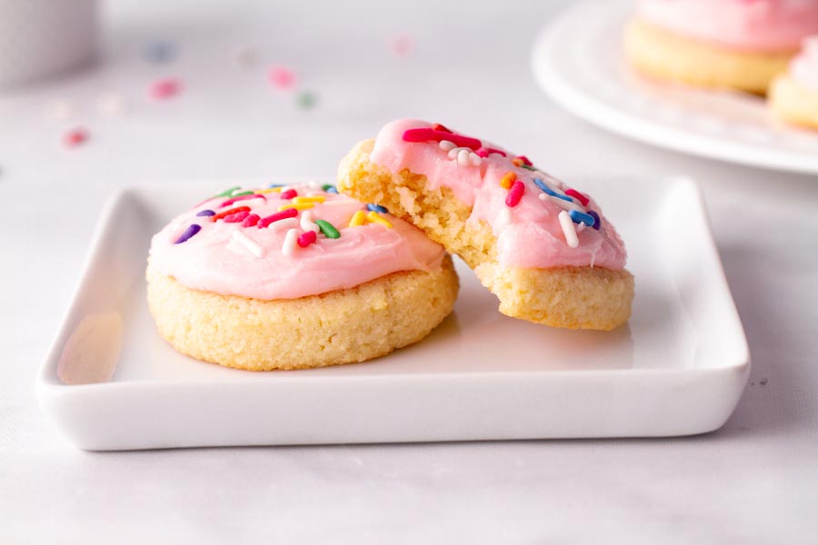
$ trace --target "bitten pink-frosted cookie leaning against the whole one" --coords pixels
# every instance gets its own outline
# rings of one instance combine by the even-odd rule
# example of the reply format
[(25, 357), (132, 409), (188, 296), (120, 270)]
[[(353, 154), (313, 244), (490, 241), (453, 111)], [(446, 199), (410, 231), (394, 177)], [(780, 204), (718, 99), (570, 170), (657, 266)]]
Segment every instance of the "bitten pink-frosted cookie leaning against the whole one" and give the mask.
[(500, 312), (611, 330), (631, 314), (622, 240), (587, 195), (517, 156), (440, 124), (400, 120), (357, 144), (338, 188), (378, 203), (457, 253)]

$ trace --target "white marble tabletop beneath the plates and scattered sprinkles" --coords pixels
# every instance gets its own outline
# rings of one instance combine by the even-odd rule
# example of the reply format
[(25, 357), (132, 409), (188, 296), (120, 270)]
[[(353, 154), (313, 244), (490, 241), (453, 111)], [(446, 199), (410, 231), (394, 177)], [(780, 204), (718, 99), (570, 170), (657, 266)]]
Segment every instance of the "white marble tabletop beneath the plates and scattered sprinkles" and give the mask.
[[(635, 144), (534, 85), (534, 33), (567, 2), (106, 5), (105, 63), (0, 95), (0, 541), (811, 543), (818, 500), (818, 180)], [(391, 37), (414, 38), (411, 54)], [(152, 39), (180, 45), (145, 63)], [(232, 64), (236, 47), (260, 64)], [(266, 84), (293, 66), (319, 102)], [(145, 85), (178, 75), (155, 104)], [(128, 112), (97, 114), (105, 93)], [(71, 122), (45, 113), (55, 100)], [(145, 180), (332, 174), (386, 120), (490, 135), (557, 175), (686, 173), (701, 183), (753, 354), (715, 433), (524, 441), (90, 453), (45, 421), (33, 383), (101, 203)], [(88, 144), (60, 134), (82, 124)], [(161, 183), (157, 183), (161, 191)]]

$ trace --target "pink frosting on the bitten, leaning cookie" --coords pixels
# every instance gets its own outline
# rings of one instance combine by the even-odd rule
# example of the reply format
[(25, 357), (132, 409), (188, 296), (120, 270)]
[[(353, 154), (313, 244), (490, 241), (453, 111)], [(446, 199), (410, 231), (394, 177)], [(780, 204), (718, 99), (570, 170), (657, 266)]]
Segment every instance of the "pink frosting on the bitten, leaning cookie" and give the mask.
[[(626, 253), (622, 239), (591, 199), (587, 206), (574, 200), (582, 211), (594, 211), (601, 217), (601, 229), (577, 227), (578, 245), (568, 245), (559, 221), (564, 208), (540, 198), (543, 193), (534, 183), (540, 179), (557, 193), (564, 194), (564, 183), (546, 173), (514, 165), (514, 154), (494, 144), (482, 142), (477, 155), (486, 155), (474, 163), (460, 164), (436, 141), (406, 142), (404, 133), (410, 129), (429, 128), (432, 124), (415, 120), (398, 120), (384, 126), (375, 140), (370, 160), (397, 173), (408, 169), (424, 174), (431, 188), (450, 188), (463, 203), (472, 206), (470, 222), (488, 223), (497, 237), (498, 258), (502, 266), (550, 268), (555, 266), (600, 266), (623, 269)], [(447, 144), (444, 144), (449, 147)], [(490, 149), (494, 148), (494, 149)], [(489, 149), (490, 153), (486, 153)], [(494, 153), (503, 152), (503, 154)], [(534, 167), (532, 167), (533, 169)], [(509, 190), (501, 180), (509, 172), (524, 183), (523, 197), (518, 204), (506, 204)]]

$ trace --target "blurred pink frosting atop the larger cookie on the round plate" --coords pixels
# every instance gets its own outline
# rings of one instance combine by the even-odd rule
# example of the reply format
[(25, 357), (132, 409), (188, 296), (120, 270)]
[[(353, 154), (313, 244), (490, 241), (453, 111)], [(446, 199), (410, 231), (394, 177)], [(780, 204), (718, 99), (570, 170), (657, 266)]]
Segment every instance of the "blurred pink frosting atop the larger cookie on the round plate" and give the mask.
[(818, 33), (816, 0), (640, 0), (638, 14), (682, 35), (743, 51), (794, 51)]

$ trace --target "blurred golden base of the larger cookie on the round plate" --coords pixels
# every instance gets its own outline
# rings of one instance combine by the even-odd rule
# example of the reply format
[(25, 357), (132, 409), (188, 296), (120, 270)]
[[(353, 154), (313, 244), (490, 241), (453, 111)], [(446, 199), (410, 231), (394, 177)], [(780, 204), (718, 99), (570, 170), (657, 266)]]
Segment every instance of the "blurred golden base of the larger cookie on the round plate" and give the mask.
[(794, 51), (735, 51), (664, 30), (633, 18), (625, 28), (624, 51), (641, 73), (696, 87), (766, 94), (787, 69)]

